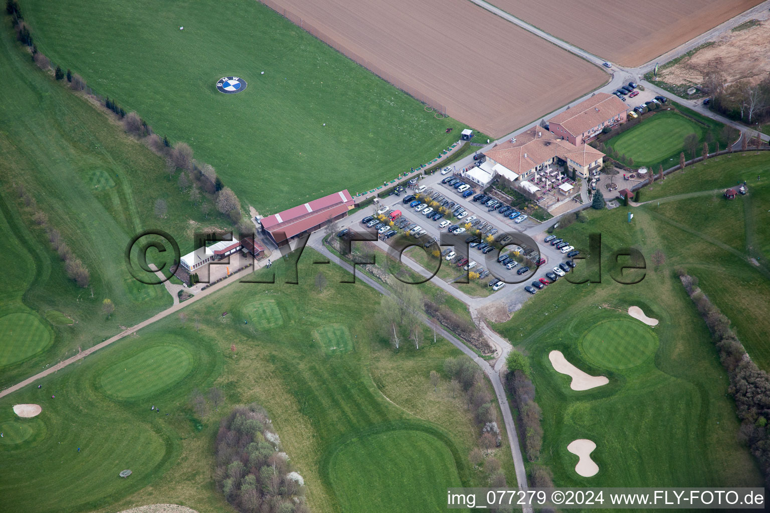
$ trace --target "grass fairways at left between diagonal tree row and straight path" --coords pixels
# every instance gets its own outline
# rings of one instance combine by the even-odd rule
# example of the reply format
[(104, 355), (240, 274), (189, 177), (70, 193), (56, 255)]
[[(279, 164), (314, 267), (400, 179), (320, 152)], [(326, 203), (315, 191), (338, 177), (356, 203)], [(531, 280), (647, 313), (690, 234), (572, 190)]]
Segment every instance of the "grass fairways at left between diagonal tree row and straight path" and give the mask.
[[(129, 275), (123, 254), (137, 232), (162, 228), (188, 252), (195, 226), (189, 220), (198, 226), (223, 225), (218, 218), (203, 219), (176, 188), (176, 179), (166, 174), (161, 158), (35, 68), (10, 32), (7, 27), (0, 31), (0, 88), (15, 92), (12, 102), (0, 104), (0, 232), (8, 253), (18, 258), (6, 270), (4, 290), (10, 294), (3, 298), (0, 314), (23, 301), (27, 306), (18, 308), (32, 308), (41, 316), (62, 312), (75, 325), (55, 328), (49, 353), (3, 368), (0, 386), (172, 304), (162, 286), (142, 285)], [(114, 186), (94, 187), (99, 184)], [(89, 268), (93, 296), (91, 288), (78, 288), (65, 277), (42, 228), (30, 228), (32, 209), (18, 198), (16, 185), (24, 186)], [(154, 215), (157, 198), (168, 203), (168, 218)], [(109, 321), (101, 313), (103, 298), (115, 304)]]

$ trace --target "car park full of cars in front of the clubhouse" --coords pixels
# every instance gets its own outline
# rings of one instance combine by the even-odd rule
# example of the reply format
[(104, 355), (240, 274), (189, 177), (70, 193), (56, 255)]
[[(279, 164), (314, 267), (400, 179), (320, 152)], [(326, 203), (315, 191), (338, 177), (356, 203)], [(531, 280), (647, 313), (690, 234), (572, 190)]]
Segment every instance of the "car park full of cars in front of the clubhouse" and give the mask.
[[(379, 234), (379, 241), (377, 242), (377, 245), (379, 245), (383, 250), (387, 251), (387, 243), (393, 242), (393, 240), (397, 240), (397, 235), (400, 235), (405, 231), (417, 231), (418, 233), (422, 232), (423, 235), (420, 235), (420, 237), (417, 238), (417, 241), (425, 245), (430, 244), (434, 240), (439, 242), (440, 234), (442, 232), (447, 232), (447, 228), (450, 228), (451, 226), (458, 226), (463, 228), (470, 220), (471, 225), (475, 226), (471, 226), (470, 231), (466, 229), (463, 233), (458, 235), (462, 241), (466, 241), (467, 239), (473, 237), (477, 228), (482, 228), (482, 235), (492, 235), (495, 242), (498, 242), (498, 239), (502, 238), (501, 243), (509, 245), (507, 245), (507, 247), (505, 247), (501, 252), (497, 252), (497, 247), (499, 247), (499, 244), (497, 246), (490, 246), (487, 248), (487, 253), (484, 253), (478, 249), (479, 245), (483, 246), (483, 242), (476, 242), (474, 239), (470, 239), (468, 244), (471, 247), (468, 248), (467, 254), (467, 258), (469, 260), (467, 263), (463, 261), (460, 266), (457, 266), (457, 263), (459, 263), (462, 255), (459, 255), (459, 252), (455, 252), (455, 255), (450, 255), (450, 252), (453, 252), (456, 249), (454, 247), (442, 247), (440, 244), (434, 243), (436, 245), (430, 244), (429, 251), (433, 252), (434, 250), (438, 250), (441, 252), (440, 258), (442, 270), (445, 269), (446, 266), (450, 266), (450, 268), (452, 268), (451, 273), (441, 272), (437, 277), (443, 278), (444, 281), (447, 281), (449, 284), (454, 281), (452, 278), (453, 276), (459, 277), (460, 275), (464, 275), (464, 266), (470, 264), (470, 262), (473, 261), (475, 261), (476, 264), (471, 265), (471, 267), (467, 270), (480, 273), (480, 276), (477, 278), (477, 280), (480, 281), (480, 284), (483, 287), (485, 287), (490, 281), (493, 281), (494, 283), (494, 279), (496, 278), (501, 278), (502, 280), (507, 281), (507, 283), (504, 285), (499, 284), (497, 285), (497, 288), (493, 286), (489, 289), (491, 292), (494, 292), (492, 295), (494, 297), (490, 297), (490, 299), (500, 298), (500, 295), (503, 295), (506, 299), (510, 298), (512, 302), (521, 302), (528, 295), (527, 291), (524, 290), (525, 286), (533, 287), (534, 284), (532, 282), (536, 281), (540, 286), (538, 288), (534, 288), (534, 291), (539, 290), (539, 288), (545, 288), (547, 283), (551, 283), (557, 279), (557, 277), (553, 276), (553, 268), (558, 267), (559, 264), (566, 265), (564, 262), (568, 259), (567, 255), (562, 253), (555, 246), (551, 246), (550, 244), (545, 243), (544, 234), (537, 235), (536, 240), (532, 241), (531, 245), (536, 248), (534, 250), (528, 247), (518, 247), (518, 244), (512, 243), (511, 241), (503, 238), (507, 233), (515, 235), (517, 232), (525, 232), (527, 228), (537, 228), (538, 223), (527, 219), (525, 222), (516, 224), (513, 220), (504, 218), (504, 216), (497, 214), (497, 211), (490, 212), (487, 207), (480, 205), (480, 202), (473, 201), (474, 196), (476, 196), (478, 193), (475, 193), (474, 195), (468, 195), (467, 198), (462, 198), (462, 195), (457, 193), (456, 189), (440, 183), (435, 184), (432, 188), (426, 187), (416, 199), (411, 199), (410, 196), (414, 195), (414, 192), (414, 190), (409, 189), (406, 192), (402, 192), (400, 196), (393, 195), (381, 199), (380, 202), (375, 204), (375, 208), (366, 209), (366, 211), (357, 212), (356, 215), (351, 216), (351, 218), (349, 218), (350, 222), (347, 224), (347, 226), (356, 230), (361, 230), (362, 228), (365, 228), (361, 222), (366, 218), (371, 218), (368, 220), (368, 224), (373, 225), (370, 226), (370, 228), (375, 228), (378, 224), (382, 223), (381, 233)], [(423, 203), (428, 200), (432, 200), (433, 202), (436, 202), (436, 200), (441, 200), (441, 196), (444, 196), (444, 200), (451, 199), (450, 203), (446, 204), (447, 206), (450, 206), (451, 203), (454, 202), (455, 205), (460, 205), (466, 211), (464, 215), (460, 216), (463, 223), (460, 223), (460, 219), (452, 215), (444, 215), (443, 218), (434, 221), (430, 219), (430, 217), (436, 213), (435, 210), (430, 212), (429, 216), (426, 217), (423, 212), (425, 208), (429, 208), (428, 206), (420, 209), (423, 210), (423, 212), (415, 211), (415, 207), (417, 207), (419, 203), (418, 205), (415, 205), (415, 207), (410, 207), (410, 204), (414, 201)], [(407, 199), (409, 201), (404, 203), (403, 201)], [(441, 200), (441, 202), (444, 202), (444, 200)], [(401, 212), (401, 215), (397, 216), (397, 218), (393, 220), (393, 226), (390, 226), (390, 222), (382, 222), (377, 218), (377, 212), (379, 212), (379, 215), (385, 216), (384, 219), (387, 221), (390, 212), (394, 211)], [(494, 230), (497, 230), (497, 232), (494, 232)], [(388, 234), (392, 234), (390, 238), (386, 238)], [(486, 237), (485, 240), (487, 240)], [(527, 244), (527, 246), (528, 245), (530, 244)], [(519, 251), (517, 252), (517, 250)], [(410, 250), (410, 252), (414, 251), (417, 250)], [(541, 264), (541, 268), (537, 268), (531, 263), (532, 259), (538, 256), (538, 251), (541, 253), (539, 256), (544, 258), (544, 262)], [(527, 252), (528, 255), (524, 255), (524, 252)], [(497, 260), (498, 255), (500, 255), (500, 259), (504, 259), (506, 256), (508, 259), (500, 263)], [(409, 258), (408, 253), (404, 256)], [(450, 261), (447, 261), (447, 256), (450, 257)], [(415, 257), (417, 258), (417, 255), (415, 255)], [(416, 258), (411, 258), (411, 260), (417, 264)], [(426, 258), (419, 259), (420, 261), (427, 261)], [(527, 264), (529, 264), (532, 270), (524, 272), (524, 275), (519, 275), (518, 271), (527, 267)], [(426, 262), (421, 264), (423, 268), (425, 265), (427, 265)], [(563, 270), (560, 269), (560, 271), (564, 273), (565, 271), (570, 271), (570, 269), (571, 268), (567, 266), (567, 268)], [(434, 269), (430, 269), (430, 271), (433, 270)], [(546, 273), (551, 273), (551, 276), (548, 277)], [(525, 280), (524, 276), (527, 277)], [(457, 288), (457, 285), (459, 284), (454, 284), (454, 288)], [(482, 293), (478, 293), (477, 288), (475, 289), (476, 293), (474, 293), (473, 288), (459, 288), (458, 290), (466, 291), (469, 295), (476, 297), (487, 295), (486, 289), (482, 289)], [(533, 291), (529, 292), (534, 293)], [(509, 304), (511, 301), (508, 301)]]

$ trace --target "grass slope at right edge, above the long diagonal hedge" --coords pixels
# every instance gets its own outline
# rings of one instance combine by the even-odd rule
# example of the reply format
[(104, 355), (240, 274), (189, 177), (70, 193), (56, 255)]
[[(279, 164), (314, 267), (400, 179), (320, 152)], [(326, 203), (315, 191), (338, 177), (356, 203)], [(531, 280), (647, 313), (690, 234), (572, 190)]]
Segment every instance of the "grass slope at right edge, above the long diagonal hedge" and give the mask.
[[(644, 208), (667, 234), (665, 250), (671, 265), (699, 278), (701, 288), (733, 322), (748, 354), (766, 370), (770, 369), (770, 176), (762, 175), (768, 163), (767, 152), (722, 155), (641, 192), (643, 201), (651, 200)], [(722, 190), (744, 181), (748, 195), (732, 201), (722, 198)], [(717, 192), (708, 193), (712, 190)], [(701, 191), (705, 195), (678, 198)], [(673, 199), (658, 205), (665, 197)], [(749, 256), (760, 266), (752, 265)]]

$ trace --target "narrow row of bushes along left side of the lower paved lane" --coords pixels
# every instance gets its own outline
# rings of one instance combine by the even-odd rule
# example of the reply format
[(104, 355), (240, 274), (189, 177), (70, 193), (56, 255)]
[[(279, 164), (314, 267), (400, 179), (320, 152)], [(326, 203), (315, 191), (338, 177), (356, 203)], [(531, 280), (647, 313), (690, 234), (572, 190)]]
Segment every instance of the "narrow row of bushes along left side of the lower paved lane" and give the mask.
[[(484, 373), (467, 356), (444, 360), (444, 372), (451, 380), (452, 397), (454, 398), (460, 391), (465, 393), (467, 408), (474, 414), (474, 421), (480, 435), (478, 447), (471, 450), (468, 455), (470, 465), (484, 470), (491, 487), (503, 488), (506, 486), (505, 474), (500, 469), (500, 461), (492, 455), (492, 451), (500, 447), (503, 441), (500, 428), (497, 427), (497, 410), (492, 402), (487, 383), (484, 381)], [(434, 386), (437, 385), (438, 373), (431, 371), (430, 379)]]

